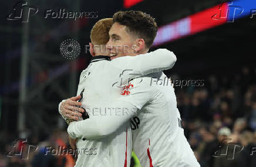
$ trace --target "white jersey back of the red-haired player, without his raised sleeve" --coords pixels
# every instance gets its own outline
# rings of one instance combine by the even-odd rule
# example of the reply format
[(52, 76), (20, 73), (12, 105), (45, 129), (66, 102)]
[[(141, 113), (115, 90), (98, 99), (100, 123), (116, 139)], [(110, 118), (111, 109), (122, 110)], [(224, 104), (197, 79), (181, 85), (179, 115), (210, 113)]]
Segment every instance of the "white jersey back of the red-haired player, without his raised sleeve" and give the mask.
[[(113, 80), (119, 80), (118, 77), (122, 70), (110, 65), (107, 58), (109, 57), (93, 57), (87, 69), (83, 70), (80, 75), (78, 94), (82, 96), (80, 101), (89, 119), (107, 114), (99, 110), (99, 104), (110, 104), (121, 93), (120, 88), (112, 84)], [(95, 155), (78, 155), (76, 166), (130, 166), (132, 134), (129, 124), (123, 124), (106, 138), (85, 139), (82, 137), (77, 142), (77, 148), (92, 149)]]

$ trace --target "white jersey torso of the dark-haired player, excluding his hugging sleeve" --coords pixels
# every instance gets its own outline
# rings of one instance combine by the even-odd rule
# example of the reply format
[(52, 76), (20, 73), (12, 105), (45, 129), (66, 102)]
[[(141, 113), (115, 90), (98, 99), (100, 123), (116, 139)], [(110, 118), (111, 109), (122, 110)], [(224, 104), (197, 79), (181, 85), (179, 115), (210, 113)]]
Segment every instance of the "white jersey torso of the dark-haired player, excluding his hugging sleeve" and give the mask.
[[(141, 81), (142, 80), (142, 81)], [(142, 166), (200, 166), (181, 125), (170, 80), (162, 72), (130, 82), (123, 100), (140, 111), (131, 119), (133, 151)]]

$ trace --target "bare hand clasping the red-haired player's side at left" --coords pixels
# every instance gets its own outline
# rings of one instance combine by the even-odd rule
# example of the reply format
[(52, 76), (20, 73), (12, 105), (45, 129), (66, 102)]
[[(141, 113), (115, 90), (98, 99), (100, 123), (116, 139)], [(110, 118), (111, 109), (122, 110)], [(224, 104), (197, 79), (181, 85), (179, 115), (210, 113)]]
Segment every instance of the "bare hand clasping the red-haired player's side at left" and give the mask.
[(82, 103), (77, 102), (79, 98), (81, 98), (80, 95), (71, 97), (60, 104), (60, 113), (64, 118), (69, 118), (71, 121), (77, 121), (78, 117), (82, 116), (82, 113), (85, 112), (85, 110), (79, 108), (82, 105)]

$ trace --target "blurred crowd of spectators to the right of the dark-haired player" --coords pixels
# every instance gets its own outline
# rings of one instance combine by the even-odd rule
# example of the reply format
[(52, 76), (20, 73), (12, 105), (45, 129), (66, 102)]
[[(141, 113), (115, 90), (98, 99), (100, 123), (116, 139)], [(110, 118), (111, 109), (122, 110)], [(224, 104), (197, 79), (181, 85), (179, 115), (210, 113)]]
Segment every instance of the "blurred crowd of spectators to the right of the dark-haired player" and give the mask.
[[(185, 135), (202, 167), (256, 166), (256, 69), (177, 89)], [(233, 156), (234, 155), (234, 156)]]

